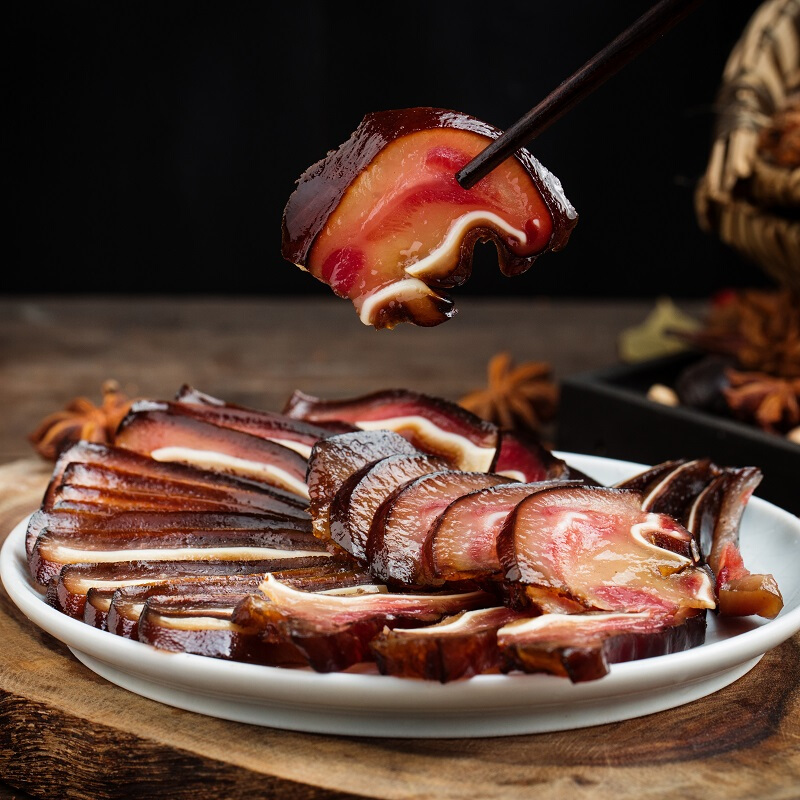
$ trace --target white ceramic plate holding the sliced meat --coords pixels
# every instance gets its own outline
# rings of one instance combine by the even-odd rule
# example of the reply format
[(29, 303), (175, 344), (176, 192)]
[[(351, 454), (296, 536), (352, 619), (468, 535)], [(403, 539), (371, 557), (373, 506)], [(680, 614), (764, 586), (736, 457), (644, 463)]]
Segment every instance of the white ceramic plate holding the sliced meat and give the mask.
[[(604, 483), (643, 468), (561, 454)], [(550, 675), (479, 675), (441, 685), (377, 674), (261, 667), (168, 653), (91, 628), (48, 606), (25, 563), (20, 523), (0, 552), (0, 577), (36, 625), (66, 643), (89, 669), (137, 694), (223, 719), (316, 733), (391, 737), (475, 737), (567, 730), (663, 711), (740, 678), (800, 630), (800, 519), (750, 501), (741, 547), (751, 572), (771, 572), (785, 606), (771, 621), (720, 622), (683, 653), (614, 664), (605, 678), (572, 685)]]

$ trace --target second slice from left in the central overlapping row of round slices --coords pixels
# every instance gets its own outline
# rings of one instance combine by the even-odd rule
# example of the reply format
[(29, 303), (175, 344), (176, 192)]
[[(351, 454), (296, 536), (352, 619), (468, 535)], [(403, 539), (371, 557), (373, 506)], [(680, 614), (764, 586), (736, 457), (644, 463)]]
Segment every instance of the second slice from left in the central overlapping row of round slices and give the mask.
[(367, 540), (381, 503), (414, 478), (439, 472), (447, 464), (426, 455), (387, 456), (354, 472), (339, 488), (330, 506), (333, 541), (359, 561), (367, 560)]

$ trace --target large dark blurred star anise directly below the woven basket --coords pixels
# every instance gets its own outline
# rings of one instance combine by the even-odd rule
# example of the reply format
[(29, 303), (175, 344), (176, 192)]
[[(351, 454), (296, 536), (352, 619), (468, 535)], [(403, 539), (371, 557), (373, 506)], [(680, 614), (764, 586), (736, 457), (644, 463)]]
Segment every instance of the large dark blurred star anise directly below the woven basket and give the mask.
[(800, 296), (789, 289), (728, 293), (712, 306), (706, 327), (686, 338), (733, 356), (744, 370), (800, 377)]

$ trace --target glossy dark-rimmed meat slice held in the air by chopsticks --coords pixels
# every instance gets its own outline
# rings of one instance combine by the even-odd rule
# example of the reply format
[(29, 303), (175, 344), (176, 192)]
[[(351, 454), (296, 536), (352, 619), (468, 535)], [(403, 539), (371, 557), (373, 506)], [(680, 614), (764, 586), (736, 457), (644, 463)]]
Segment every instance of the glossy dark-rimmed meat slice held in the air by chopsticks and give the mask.
[[(493, 240), (502, 272), (518, 275), (561, 249), (577, 222), (558, 180), (524, 149), (473, 189), (458, 185), (455, 173), (500, 133), (445, 109), (368, 114), (300, 177), (283, 215), (284, 258), (353, 300), (365, 324), (444, 322), (452, 301), (429, 287), (463, 283), (477, 241)], [(415, 272), (430, 255), (442, 258)], [(366, 312), (369, 295), (395, 287), (402, 293)]]

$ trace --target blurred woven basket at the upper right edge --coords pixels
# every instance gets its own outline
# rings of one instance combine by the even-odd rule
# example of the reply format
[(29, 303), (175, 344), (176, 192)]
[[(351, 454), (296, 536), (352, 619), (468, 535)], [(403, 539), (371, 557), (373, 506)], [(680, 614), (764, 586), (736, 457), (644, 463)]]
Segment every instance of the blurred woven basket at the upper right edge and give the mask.
[[(695, 200), (704, 230), (797, 291), (799, 118), (800, 0), (768, 0), (725, 66), (715, 139)], [(776, 137), (778, 156), (770, 147)]]

